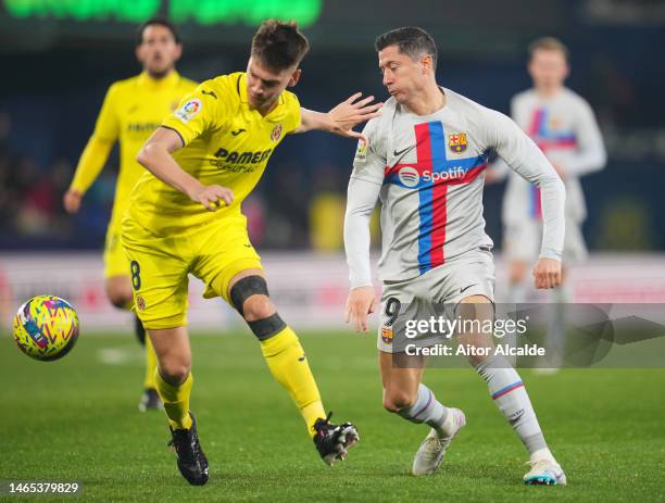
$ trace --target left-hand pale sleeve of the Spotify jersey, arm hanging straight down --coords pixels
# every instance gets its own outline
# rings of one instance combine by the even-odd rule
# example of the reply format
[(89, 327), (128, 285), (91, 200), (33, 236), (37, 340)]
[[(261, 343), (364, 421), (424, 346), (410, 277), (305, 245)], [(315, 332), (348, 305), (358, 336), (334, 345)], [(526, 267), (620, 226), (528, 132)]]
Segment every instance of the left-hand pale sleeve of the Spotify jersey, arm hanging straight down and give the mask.
[(386, 169), (386, 154), (376, 133), (377, 126), (377, 120), (369, 121), (363, 130), (367, 143), (363, 140), (357, 142), (347, 193), (344, 250), (351, 288), (372, 285), (369, 221)]

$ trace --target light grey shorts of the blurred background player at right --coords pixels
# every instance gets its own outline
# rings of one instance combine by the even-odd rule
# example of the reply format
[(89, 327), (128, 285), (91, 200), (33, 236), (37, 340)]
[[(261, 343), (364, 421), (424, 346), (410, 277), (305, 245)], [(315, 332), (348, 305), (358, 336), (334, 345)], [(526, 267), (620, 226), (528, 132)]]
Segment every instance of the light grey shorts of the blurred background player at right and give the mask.
[[(505, 227), (503, 249), (509, 260), (536, 262), (542, 242), (542, 222), (525, 218), (517, 224)], [(588, 255), (580, 225), (566, 218), (563, 259), (565, 261), (584, 261)]]

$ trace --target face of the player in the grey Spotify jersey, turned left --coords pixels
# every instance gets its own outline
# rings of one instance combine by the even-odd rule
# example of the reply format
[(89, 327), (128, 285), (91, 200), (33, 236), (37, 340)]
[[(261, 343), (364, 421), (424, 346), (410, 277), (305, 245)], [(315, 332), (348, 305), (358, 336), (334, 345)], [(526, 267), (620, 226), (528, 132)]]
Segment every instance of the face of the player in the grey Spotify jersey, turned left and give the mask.
[(401, 53), (398, 46), (382, 49), (378, 56), (384, 86), (398, 103), (407, 102), (423, 85), (427, 68), (423, 66), (422, 61)]

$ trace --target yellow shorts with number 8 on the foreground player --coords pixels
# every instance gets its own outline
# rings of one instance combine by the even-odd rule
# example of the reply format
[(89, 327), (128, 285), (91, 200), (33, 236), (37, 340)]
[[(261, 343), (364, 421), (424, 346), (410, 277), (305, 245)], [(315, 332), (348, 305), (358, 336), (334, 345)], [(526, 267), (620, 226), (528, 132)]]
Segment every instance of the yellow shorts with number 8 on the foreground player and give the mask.
[(227, 290), (234, 276), (263, 268), (242, 215), (168, 237), (155, 236), (126, 217), (122, 243), (135, 310), (148, 329), (187, 325), (188, 274), (205, 284), (204, 298), (222, 297), (230, 303)]

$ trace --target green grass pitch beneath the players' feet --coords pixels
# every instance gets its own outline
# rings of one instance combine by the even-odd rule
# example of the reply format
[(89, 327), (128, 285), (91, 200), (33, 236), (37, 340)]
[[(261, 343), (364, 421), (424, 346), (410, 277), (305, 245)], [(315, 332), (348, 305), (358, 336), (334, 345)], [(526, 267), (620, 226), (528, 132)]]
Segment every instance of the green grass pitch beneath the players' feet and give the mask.
[(326, 407), (359, 427), (344, 463), (318, 458), (249, 334), (192, 337), (191, 406), (211, 464), (202, 488), (177, 471), (163, 413), (137, 410), (142, 357), (133, 338), (84, 335), (65, 359), (41, 363), (2, 337), (0, 480), (78, 481), (80, 501), (103, 502), (665, 500), (663, 369), (522, 370), (565, 488), (523, 486), (523, 447), (470, 368), (429, 369), (425, 382), (468, 423), (439, 473), (415, 478), (427, 427), (382, 411), (374, 336), (301, 339)]

